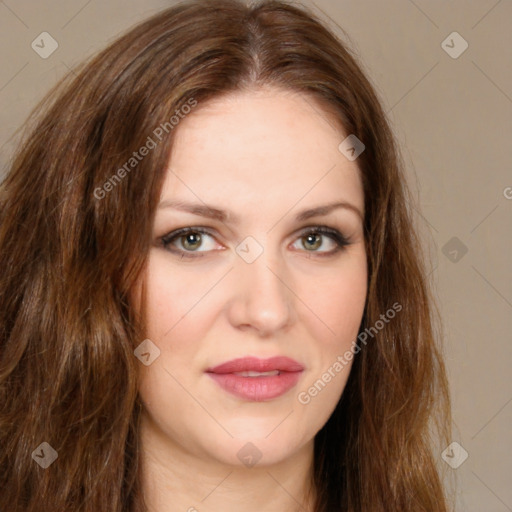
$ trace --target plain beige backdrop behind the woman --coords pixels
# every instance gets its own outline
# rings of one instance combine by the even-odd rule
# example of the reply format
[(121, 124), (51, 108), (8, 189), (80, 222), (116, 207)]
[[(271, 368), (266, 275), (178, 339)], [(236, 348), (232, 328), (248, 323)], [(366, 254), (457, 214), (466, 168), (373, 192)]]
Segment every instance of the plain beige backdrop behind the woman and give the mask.
[[(15, 130), (59, 77), (172, 3), (0, 1), (1, 172)], [(350, 37), (419, 196), (444, 317), (454, 440), (469, 453), (448, 468), (458, 481), (457, 510), (512, 511), (512, 1), (305, 3)], [(43, 31), (59, 44), (47, 59), (31, 48)], [(469, 45), (458, 58), (442, 46), (453, 31)], [(450, 51), (460, 49), (451, 39)]]

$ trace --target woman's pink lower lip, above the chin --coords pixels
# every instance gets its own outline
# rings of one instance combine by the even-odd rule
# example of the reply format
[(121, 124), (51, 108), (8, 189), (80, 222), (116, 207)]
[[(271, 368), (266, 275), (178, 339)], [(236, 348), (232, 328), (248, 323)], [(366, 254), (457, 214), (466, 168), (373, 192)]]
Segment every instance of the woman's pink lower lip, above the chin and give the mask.
[(300, 379), (300, 372), (281, 372), (279, 375), (241, 377), (233, 373), (208, 373), (217, 384), (232, 395), (253, 402), (264, 402), (284, 395)]

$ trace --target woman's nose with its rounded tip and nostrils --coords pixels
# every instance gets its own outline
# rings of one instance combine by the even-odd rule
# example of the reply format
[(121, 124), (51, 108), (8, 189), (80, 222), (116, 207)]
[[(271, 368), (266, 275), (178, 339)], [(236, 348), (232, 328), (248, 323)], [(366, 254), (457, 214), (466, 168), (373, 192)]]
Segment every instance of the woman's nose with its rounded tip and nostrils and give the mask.
[(254, 330), (260, 337), (288, 329), (294, 321), (293, 292), (290, 277), (270, 250), (252, 263), (237, 257), (231, 279), (233, 295), (228, 306), (231, 325)]

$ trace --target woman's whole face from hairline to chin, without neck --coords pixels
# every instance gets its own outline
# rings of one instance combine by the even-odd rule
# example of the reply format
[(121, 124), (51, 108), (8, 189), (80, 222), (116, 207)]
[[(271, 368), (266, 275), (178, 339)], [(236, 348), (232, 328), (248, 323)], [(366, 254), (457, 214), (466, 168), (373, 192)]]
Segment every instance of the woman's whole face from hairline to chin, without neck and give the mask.
[(333, 412), (363, 315), (363, 189), (338, 149), (349, 134), (276, 89), (199, 105), (175, 129), (145, 276), (160, 355), (141, 365), (143, 429), (210, 462), (277, 463)]

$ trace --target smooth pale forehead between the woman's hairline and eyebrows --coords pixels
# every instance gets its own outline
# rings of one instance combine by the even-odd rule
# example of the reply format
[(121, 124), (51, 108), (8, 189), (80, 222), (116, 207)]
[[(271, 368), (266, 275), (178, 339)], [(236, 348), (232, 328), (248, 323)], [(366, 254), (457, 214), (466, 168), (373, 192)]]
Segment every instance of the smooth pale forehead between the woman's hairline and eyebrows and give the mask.
[(192, 112), (175, 133), (163, 197), (195, 194), (242, 207), (295, 202), (306, 193), (311, 201), (337, 200), (341, 193), (363, 209), (357, 163), (338, 150), (346, 134), (310, 96), (245, 91)]

